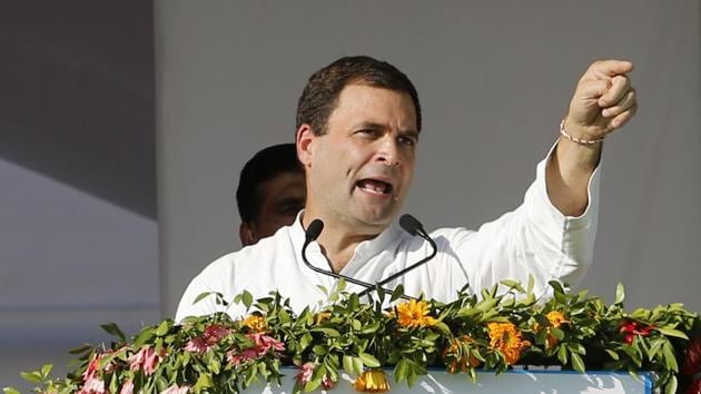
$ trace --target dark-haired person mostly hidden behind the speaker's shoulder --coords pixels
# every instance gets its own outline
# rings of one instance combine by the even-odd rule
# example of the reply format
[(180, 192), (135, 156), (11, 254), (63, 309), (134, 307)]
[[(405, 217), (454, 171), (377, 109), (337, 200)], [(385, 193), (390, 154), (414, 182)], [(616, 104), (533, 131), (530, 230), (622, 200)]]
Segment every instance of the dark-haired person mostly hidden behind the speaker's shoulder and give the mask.
[(236, 189), (241, 245), (254, 245), (293, 224), (304, 200), (304, 169), (295, 144), (258, 151), (244, 166)]

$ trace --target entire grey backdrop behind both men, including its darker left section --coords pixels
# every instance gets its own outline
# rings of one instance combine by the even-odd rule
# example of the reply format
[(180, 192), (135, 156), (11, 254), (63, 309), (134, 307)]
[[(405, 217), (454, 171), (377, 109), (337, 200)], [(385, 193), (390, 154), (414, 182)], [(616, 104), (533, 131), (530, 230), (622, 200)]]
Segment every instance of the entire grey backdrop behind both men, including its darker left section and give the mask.
[(700, 3), (681, 0), (3, 2), (0, 385), (45, 362), (65, 371), (100, 323), (172, 315), (187, 282), (239, 247), (243, 164), (292, 140), (306, 78), (353, 53), (419, 89), (405, 211), (430, 228), (516, 206), (585, 66), (634, 60), (641, 108), (605, 145), (583, 287), (611, 297), (622, 280), (631, 307), (701, 309), (700, 26)]

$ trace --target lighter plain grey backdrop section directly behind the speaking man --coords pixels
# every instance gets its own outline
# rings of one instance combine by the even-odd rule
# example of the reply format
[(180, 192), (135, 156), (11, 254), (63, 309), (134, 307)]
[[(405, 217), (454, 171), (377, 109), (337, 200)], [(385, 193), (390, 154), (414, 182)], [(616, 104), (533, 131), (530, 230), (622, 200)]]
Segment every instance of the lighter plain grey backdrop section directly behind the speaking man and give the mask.
[(599, 58), (635, 62), (640, 111), (606, 140), (595, 266), (630, 307), (701, 309), (699, 1), (156, 1), (161, 299), (238, 248), (234, 189), (292, 141), (308, 76), (335, 58), (398, 66), (424, 109), (405, 211), (474, 228), (515, 207)]

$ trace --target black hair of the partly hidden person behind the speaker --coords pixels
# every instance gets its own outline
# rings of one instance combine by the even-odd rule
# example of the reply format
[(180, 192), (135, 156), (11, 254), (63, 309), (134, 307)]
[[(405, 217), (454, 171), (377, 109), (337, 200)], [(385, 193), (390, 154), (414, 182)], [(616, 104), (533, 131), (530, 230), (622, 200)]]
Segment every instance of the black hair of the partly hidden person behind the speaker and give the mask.
[(246, 162), (236, 189), (238, 214), (244, 223), (254, 223), (260, 215), (260, 185), (283, 173), (300, 173), (295, 144), (279, 144), (258, 151)]

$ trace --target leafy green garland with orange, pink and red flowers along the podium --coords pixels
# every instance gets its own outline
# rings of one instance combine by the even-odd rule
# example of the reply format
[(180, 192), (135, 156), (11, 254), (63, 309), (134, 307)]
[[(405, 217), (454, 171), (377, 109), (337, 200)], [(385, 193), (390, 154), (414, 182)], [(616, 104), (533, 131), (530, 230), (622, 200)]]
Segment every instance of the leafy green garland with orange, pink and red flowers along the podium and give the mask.
[[(328, 294), (330, 305), (298, 315), (277, 293), (254, 302), (244, 292), (233, 301), (248, 308), (243, 319), (225, 312), (179, 325), (166, 319), (130, 341), (107, 324), (102, 327), (116, 342), (72, 351), (79, 364), (67, 377), (51, 378), (51, 365), (22, 376), (41, 393), (238, 393), (255, 381), (280, 384), (280, 366), (295, 365), (295, 393), (333, 390), (342, 368), (355, 376), (355, 390), (377, 393), (391, 390), (382, 367), (394, 367), (395, 382), (412, 386), (428, 366), (475, 382), (478, 368), (498, 374), (532, 364), (652, 371), (655, 386), (667, 393), (701, 391), (699, 315), (681, 304), (628, 313), (621, 285), (611, 305), (556, 282), (552, 298), (541, 303), (532, 280), (525, 289), (503, 280), (480, 296), (458, 294), (447, 304), (398, 302), (402, 286), (361, 303), (344, 287), (339, 282)], [(209, 296), (228, 305), (219, 294)]]

